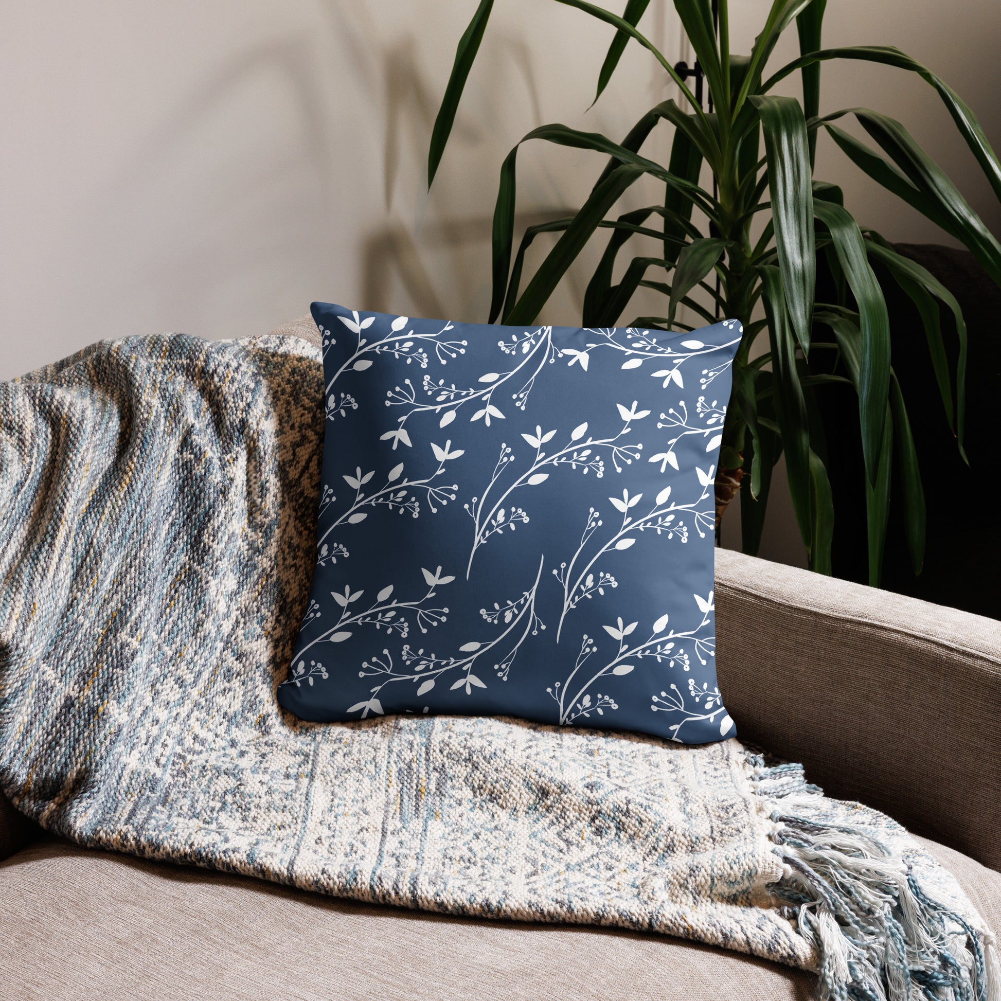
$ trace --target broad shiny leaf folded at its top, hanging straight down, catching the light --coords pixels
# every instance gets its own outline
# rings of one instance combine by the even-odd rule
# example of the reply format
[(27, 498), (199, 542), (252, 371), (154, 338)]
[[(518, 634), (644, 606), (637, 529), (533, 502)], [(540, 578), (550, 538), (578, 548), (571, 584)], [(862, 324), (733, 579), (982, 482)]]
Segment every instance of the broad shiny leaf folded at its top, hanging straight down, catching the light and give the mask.
[[(807, 126), (800, 102), (792, 97), (752, 97), (761, 116), (768, 154), (772, 219), (789, 316), (804, 353), (816, 285), (813, 191)], [(788, 452), (788, 448), (787, 448)]]

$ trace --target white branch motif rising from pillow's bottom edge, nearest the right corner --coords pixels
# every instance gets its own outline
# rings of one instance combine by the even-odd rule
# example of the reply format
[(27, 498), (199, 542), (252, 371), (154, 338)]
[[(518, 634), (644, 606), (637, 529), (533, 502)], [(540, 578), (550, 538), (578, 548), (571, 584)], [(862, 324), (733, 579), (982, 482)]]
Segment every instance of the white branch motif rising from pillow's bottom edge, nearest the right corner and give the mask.
[[(552, 688), (546, 691), (553, 698), (560, 710), (560, 724), (569, 725), (581, 716), (587, 716), (594, 709), (597, 711), (599, 705), (601, 709), (618, 708), (609, 704), (611, 696), (597, 694), (598, 702), (593, 703), (590, 698), (590, 690), (600, 679), (607, 678), (609, 681), (613, 677), (625, 677), (632, 674), (636, 668), (631, 661), (642, 661), (644, 658), (653, 658), (658, 664), (667, 662), (669, 668), (681, 667), (685, 671), (691, 668), (689, 650), (699, 660), (700, 664), (709, 663), (709, 658), (716, 656), (716, 637), (704, 635), (703, 631), (710, 623), (710, 613), (715, 609), (713, 603), (713, 593), (704, 599), (698, 595), (693, 596), (699, 611), (702, 613), (702, 621), (695, 629), (676, 633), (673, 629), (665, 632), (668, 628), (668, 616), (663, 615), (654, 623), (650, 636), (643, 643), (631, 644), (628, 639), (635, 632), (639, 623), (626, 624), (620, 618), (615, 626), (603, 626), (606, 633), (619, 643), (619, 651), (611, 660), (607, 661), (598, 671), (591, 674), (587, 681), (582, 679), (587, 677), (589, 672), (585, 670), (585, 665), (598, 653), (598, 641), (585, 635), (581, 644), (581, 650), (577, 657), (574, 670), (564, 682), (557, 682)], [(580, 677), (579, 677), (580, 676)], [(571, 695), (571, 693), (574, 693)], [(603, 699), (606, 701), (603, 703)], [(604, 715), (604, 713), (599, 714)]]

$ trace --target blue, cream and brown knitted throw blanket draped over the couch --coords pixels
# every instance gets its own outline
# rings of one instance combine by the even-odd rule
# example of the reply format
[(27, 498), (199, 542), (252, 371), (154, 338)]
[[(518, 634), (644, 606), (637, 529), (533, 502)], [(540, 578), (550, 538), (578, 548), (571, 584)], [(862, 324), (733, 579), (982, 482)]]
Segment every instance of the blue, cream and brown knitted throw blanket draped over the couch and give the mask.
[(279, 710), (321, 393), (317, 347), (274, 335), (102, 342), (0, 383), (20, 810), (357, 900), (697, 939), (816, 970), (824, 997), (999, 997), (990, 933), (906, 832), (736, 740)]

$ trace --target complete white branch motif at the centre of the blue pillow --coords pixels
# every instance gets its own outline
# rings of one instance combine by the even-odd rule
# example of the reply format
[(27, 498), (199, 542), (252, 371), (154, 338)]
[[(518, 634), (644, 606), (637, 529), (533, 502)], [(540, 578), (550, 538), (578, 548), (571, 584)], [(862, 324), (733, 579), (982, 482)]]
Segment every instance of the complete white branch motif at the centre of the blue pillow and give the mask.
[(588, 434), (588, 422), (578, 424), (570, 433), (567, 444), (562, 448), (548, 453), (543, 449), (543, 445), (549, 442), (557, 431), (543, 431), (541, 426), (536, 427), (535, 434), (523, 434), (522, 437), (529, 445), (536, 449), (535, 458), (532, 464), (506, 489), (495, 500), (490, 503), (489, 494), (493, 486), (502, 478), (508, 466), (515, 460), (515, 453), (507, 442), (502, 442), (500, 452), (497, 456), (496, 464), (493, 466), (493, 474), (479, 496), (472, 497), (471, 502), (463, 505), (466, 514), (472, 519), (472, 547), (469, 551), (469, 562), (465, 568), (465, 578), (468, 580), (472, 570), (472, 560), (479, 549), (491, 536), (499, 535), (505, 528), (515, 530), (516, 520), (528, 522), (529, 516), (521, 508), (513, 508), (510, 514), (506, 514), (505, 504), (511, 494), (523, 486), (539, 486), (550, 477), (549, 471), (544, 469), (556, 469), (561, 465), (570, 466), (572, 469), (580, 468), (587, 473), (590, 469), (595, 470), (595, 475), (601, 479), (605, 475), (605, 459), (601, 456), (601, 449), (606, 449), (609, 458), (615, 467), (616, 472), (622, 472), (624, 465), (631, 465), (639, 460), (643, 443), (627, 442), (624, 439), (632, 430), (634, 420), (641, 420), (646, 417), (650, 410), (638, 410), (637, 401), (633, 400), (630, 408), (622, 403), (617, 403), (619, 414), (624, 423), (622, 430), (611, 437), (595, 438)]

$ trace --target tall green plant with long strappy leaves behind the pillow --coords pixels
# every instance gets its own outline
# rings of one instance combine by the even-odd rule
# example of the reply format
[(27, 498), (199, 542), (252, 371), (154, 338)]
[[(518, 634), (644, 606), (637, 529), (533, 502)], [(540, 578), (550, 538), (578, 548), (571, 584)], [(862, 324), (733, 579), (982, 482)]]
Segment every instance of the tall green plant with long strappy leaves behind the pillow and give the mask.
[[(492, 2), (481, 0), (459, 40), (431, 136), (428, 184), (444, 152)], [(650, 0), (628, 0), (622, 16), (587, 0), (557, 2), (616, 29), (598, 74), (596, 101), (632, 40), (661, 64), (687, 107), (674, 100), (658, 104), (618, 142), (560, 124), (529, 132), (522, 142), (540, 139), (592, 150), (608, 159), (579, 211), (529, 227), (517, 251), (519, 146), (511, 151), (500, 168), (493, 213), (490, 322), (535, 321), (582, 249), (590, 240), (604, 238), (608, 230), (585, 294), (583, 326), (623, 325), (639, 288), (663, 293), (666, 308), (663, 316), (628, 318), (630, 326), (691, 329), (675, 318), (680, 304), (707, 323), (719, 315), (744, 325), (717, 472), (717, 524), (741, 490), (743, 548), (757, 552), (772, 469), (784, 451), (809, 565), (831, 573), (835, 512), (816, 394), (824, 391), (825, 383), (849, 382), (858, 397), (865, 460), (870, 584), (880, 581), (894, 463), (904, 486), (908, 547), (919, 573), (925, 547), (924, 492), (907, 409), (891, 364), (886, 301), (872, 262), (884, 265), (918, 308), (944, 419), (964, 457), (966, 328), (956, 299), (929, 271), (897, 253), (878, 233), (861, 229), (844, 207), (841, 189), (814, 177), (818, 132), (826, 130), (869, 177), (965, 244), (999, 284), (1001, 244), (900, 122), (866, 108), (819, 115), (821, 63), (866, 60), (919, 76), (945, 103), (1001, 197), (1001, 164), (976, 116), (934, 73), (896, 48), (821, 48), (826, 0), (774, 0), (750, 55), (730, 52), (727, 0), (719, 0), (718, 24), (710, 0), (675, 0), (705, 74), (711, 110), (701, 106), (675, 66), (638, 29)], [(802, 55), (766, 76), (776, 43), (794, 21)], [(797, 71), (802, 75), (802, 101), (772, 93), (776, 84)], [(878, 149), (838, 125), (839, 119), (850, 115)], [(642, 152), (647, 138), (661, 126), (674, 128), (666, 165)], [(712, 182), (700, 184), (707, 173)], [(620, 197), (641, 177), (663, 184), (663, 200), (617, 213)], [(764, 227), (759, 223), (753, 231), (759, 219), (765, 220)], [(526, 250), (541, 232), (562, 235), (531, 279), (523, 282)], [(636, 236), (657, 239), (660, 252), (635, 256), (623, 268), (618, 263), (620, 252)], [(833, 289), (824, 301), (817, 298), (819, 267), (829, 274), (831, 280), (825, 284)], [(953, 367), (943, 343), (943, 306), (955, 317), (959, 338)]]

